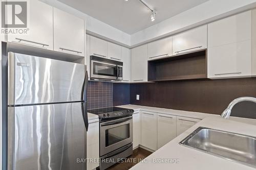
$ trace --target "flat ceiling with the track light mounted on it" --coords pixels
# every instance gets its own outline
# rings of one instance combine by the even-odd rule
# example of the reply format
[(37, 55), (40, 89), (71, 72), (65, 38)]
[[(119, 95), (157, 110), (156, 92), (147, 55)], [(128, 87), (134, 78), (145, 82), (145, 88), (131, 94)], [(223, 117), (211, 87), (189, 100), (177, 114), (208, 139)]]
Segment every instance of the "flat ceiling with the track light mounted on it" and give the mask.
[(127, 34), (133, 34), (175, 16), (208, 0), (144, 0), (156, 11), (151, 21), (151, 11), (139, 0), (58, 0), (90, 15)]

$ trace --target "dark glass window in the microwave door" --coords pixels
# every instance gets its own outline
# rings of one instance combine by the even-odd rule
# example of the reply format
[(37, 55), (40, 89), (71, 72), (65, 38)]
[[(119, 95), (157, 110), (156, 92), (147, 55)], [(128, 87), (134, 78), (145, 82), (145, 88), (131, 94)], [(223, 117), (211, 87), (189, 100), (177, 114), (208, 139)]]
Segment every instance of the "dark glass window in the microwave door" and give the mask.
[(116, 74), (117, 74), (116, 66), (94, 62), (93, 74), (100, 75), (100, 76), (116, 77)]

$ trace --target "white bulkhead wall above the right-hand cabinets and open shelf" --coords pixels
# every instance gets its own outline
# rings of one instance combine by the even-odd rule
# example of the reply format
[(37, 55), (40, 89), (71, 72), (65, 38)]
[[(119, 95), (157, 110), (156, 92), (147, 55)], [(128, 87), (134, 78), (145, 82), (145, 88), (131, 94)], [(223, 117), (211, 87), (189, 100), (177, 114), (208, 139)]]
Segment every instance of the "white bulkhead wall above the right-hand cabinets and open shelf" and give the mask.
[[(210, 0), (131, 35), (139, 45), (256, 7), (255, 0)], [(156, 15), (157, 17), (157, 15)]]

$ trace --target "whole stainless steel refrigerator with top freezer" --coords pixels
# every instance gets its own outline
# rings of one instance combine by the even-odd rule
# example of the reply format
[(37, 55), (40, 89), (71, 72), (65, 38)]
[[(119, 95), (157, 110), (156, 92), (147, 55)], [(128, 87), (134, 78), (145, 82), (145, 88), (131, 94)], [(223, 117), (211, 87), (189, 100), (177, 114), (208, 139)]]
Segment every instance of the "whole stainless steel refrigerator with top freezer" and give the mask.
[(86, 65), (8, 53), (8, 169), (86, 169)]

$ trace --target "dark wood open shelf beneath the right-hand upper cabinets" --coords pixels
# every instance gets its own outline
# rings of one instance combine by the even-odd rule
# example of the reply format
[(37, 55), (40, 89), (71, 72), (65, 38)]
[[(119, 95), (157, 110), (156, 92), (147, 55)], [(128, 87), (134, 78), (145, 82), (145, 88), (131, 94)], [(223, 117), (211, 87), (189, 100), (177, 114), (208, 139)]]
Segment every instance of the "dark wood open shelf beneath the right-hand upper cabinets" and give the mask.
[(148, 61), (148, 81), (206, 79), (206, 54), (206, 50), (200, 50), (193, 53)]

